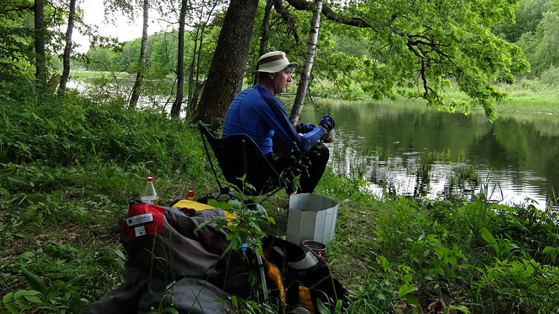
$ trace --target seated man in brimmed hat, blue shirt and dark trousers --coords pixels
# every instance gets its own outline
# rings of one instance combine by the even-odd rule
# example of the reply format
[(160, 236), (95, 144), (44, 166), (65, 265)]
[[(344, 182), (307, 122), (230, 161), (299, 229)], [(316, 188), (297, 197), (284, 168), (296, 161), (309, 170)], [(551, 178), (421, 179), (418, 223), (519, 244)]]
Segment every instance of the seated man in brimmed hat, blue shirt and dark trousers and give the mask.
[[(270, 164), (284, 177), (286, 193), (312, 193), (324, 174), (329, 152), (319, 140), (335, 126), (331, 114), (314, 124), (293, 125), (282, 102), (274, 96), (286, 91), (291, 69), (284, 52), (263, 54), (257, 63), (258, 82), (240, 91), (227, 111), (223, 137), (245, 133), (256, 142)], [(300, 133), (304, 133), (300, 135)], [(293, 179), (300, 174), (299, 190)]]

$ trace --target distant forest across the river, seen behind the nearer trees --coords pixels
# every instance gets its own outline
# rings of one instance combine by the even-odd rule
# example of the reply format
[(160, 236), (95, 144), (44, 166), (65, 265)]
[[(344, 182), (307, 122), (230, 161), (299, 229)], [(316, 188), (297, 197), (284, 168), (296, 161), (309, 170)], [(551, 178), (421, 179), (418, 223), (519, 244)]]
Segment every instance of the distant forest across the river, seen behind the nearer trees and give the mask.
[[(509, 43), (516, 43), (521, 47), (526, 59), (530, 62), (530, 73), (526, 73), (526, 77), (545, 76), (547, 71), (553, 71), (559, 65), (558, 4), (554, 0), (521, 0), (514, 10), (514, 15), (515, 23), (498, 24), (493, 27), (493, 33)], [(218, 27), (218, 29), (214, 31), (214, 27)], [(189, 66), (194, 56), (194, 39), (198, 31), (199, 29), (195, 28), (184, 35), (184, 60), (187, 62), (185, 66)], [(203, 65), (201, 73), (208, 72), (212, 49), (215, 48), (217, 36), (219, 36), (219, 20), (212, 20), (205, 31), (208, 32), (208, 36), (203, 42), (205, 59), (201, 61)], [(367, 38), (336, 36), (336, 33), (332, 32), (322, 35), (327, 37), (326, 40), (330, 41), (331, 45), (324, 45), (327, 50), (321, 53), (343, 52), (349, 57), (365, 56), (372, 59), (370, 51), (367, 49), (367, 46), (370, 45)], [(278, 39), (281, 40), (281, 38)], [(72, 68), (134, 73), (136, 72), (134, 65), (139, 61), (140, 40), (141, 38), (137, 38), (124, 42), (122, 47), (117, 50), (110, 47), (92, 47), (86, 54), (88, 62), (73, 60)], [(321, 48), (324, 49), (324, 46)], [(252, 47), (252, 50), (256, 50), (256, 47)], [(177, 31), (148, 36), (146, 55), (147, 63), (160, 69), (161, 74), (173, 73), (177, 64)], [(53, 60), (53, 68), (61, 70), (61, 61)]]

